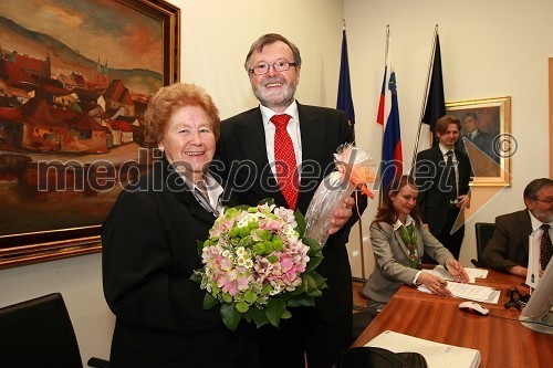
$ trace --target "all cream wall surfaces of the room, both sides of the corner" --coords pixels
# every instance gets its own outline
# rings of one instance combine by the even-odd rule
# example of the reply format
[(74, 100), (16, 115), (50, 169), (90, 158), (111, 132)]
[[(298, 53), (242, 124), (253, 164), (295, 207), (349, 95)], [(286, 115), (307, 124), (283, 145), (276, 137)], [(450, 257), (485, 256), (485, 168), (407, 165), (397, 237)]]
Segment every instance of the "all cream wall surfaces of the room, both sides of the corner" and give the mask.
[[(512, 133), (519, 151), (513, 185), (468, 223), (461, 262), (476, 253), (476, 220), (523, 207), (526, 182), (547, 176), (547, 57), (553, 56), (553, 3), (535, 0), (465, 2), (384, 0), (173, 0), (181, 9), (181, 81), (206, 87), (229, 117), (257, 105), (242, 64), (262, 33), (290, 38), (302, 52), (298, 98), (334, 107), (342, 18), (347, 21), (357, 144), (379, 156), (382, 133), (374, 123), (384, 65), (384, 35), (390, 25), (398, 78), (406, 166), (410, 165), (424, 94), (434, 25), (439, 23), (446, 99), (512, 96)], [(526, 134), (529, 126), (538, 134)], [(366, 228), (376, 203), (364, 215)], [(372, 270), (364, 235), (365, 276)], [(352, 241), (354, 273), (361, 270), (358, 241)], [(105, 305), (100, 254), (0, 271), (0, 306), (61, 292), (76, 329), (83, 359), (107, 357), (114, 318)]]

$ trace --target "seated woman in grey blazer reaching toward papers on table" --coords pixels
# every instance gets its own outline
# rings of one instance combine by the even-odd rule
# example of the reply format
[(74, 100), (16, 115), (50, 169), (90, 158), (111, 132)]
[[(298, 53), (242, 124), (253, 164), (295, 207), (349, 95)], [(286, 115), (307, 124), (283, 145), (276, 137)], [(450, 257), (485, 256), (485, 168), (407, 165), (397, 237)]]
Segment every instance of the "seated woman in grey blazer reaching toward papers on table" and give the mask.
[(448, 249), (422, 225), (415, 179), (395, 178), (386, 193), (369, 230), (375, 271), (362, 290), (367, 306), (382, 309), (404, 284), (425, 285), (435, 294), (451, 296), (444, 278), (419, 270), (424, 252), (445, 265), (456, 282), (466, 283), (469, 276)]

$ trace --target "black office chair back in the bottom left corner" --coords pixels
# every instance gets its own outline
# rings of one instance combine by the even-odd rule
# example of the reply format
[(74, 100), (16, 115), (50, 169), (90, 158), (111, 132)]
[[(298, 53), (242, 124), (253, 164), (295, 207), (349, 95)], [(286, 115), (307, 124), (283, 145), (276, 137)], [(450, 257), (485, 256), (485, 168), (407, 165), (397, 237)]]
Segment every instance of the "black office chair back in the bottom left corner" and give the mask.
[[(62, 294), (0, 308), (0, 366), (83, 368)], [(109, 362), (91, 358), (87, 366), (106, 368)]]

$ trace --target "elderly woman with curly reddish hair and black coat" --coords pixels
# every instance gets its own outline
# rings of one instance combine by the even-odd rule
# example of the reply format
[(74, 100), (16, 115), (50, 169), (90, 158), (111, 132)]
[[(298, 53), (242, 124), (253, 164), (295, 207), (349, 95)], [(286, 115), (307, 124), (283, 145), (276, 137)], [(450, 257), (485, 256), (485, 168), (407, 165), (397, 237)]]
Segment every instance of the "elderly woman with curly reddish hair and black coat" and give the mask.
[(219, 112), (200, 87), (174, 84), (149, 102), (145, 129), (163, 158), (125, 188), (102, 229), (112, 367), (258, 367), (253, 327), (228, 330), (189, 280), (201, 267), (196, 242), (226, 204), (207, 172)]

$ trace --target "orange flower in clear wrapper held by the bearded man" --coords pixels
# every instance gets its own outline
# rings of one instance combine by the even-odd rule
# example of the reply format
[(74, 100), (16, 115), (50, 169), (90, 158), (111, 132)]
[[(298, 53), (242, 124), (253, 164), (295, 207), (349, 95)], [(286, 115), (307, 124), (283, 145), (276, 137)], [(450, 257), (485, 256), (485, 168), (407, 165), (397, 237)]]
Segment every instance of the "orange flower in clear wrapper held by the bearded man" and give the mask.
[(328, 229), (334, 212), (344, 207), (344, 201), (352, 196), (355, 188), (374, 199), (367, 183), (374, 182), (374, 174), (369, 169), (373, 162), (371, 155), (352, 144), (340, 146), (334, 154), (336, 171), (327, 175), (319, 185), (305, 213), (305, 236), (314, 239), (324, 246), (328, 238)]

